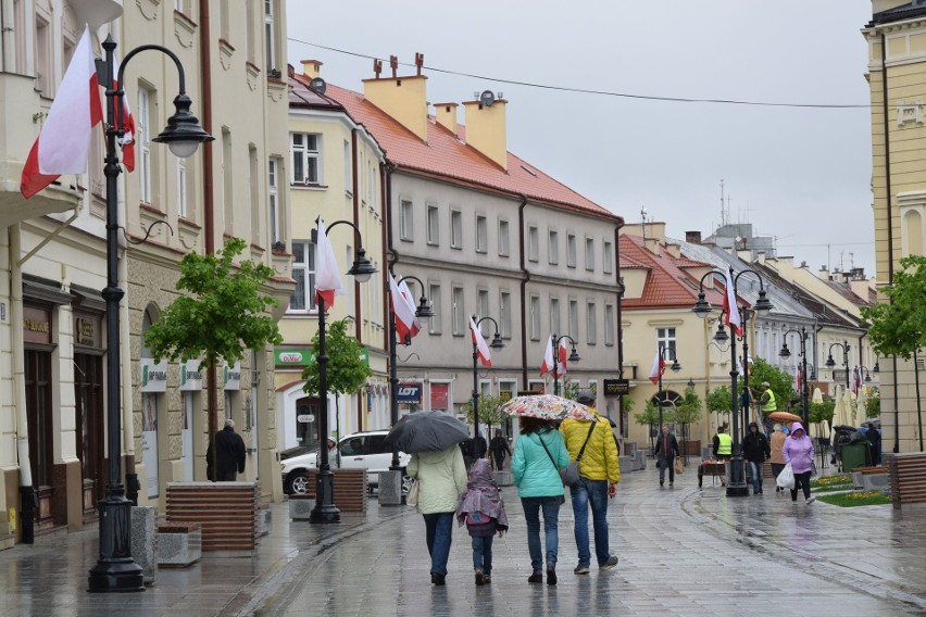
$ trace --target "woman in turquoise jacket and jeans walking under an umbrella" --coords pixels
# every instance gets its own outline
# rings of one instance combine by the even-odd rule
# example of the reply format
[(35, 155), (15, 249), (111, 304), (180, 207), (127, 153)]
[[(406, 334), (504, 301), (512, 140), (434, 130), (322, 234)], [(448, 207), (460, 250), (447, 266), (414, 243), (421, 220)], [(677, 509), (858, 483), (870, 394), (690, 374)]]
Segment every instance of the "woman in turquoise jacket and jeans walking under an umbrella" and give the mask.
[(540, 513), (543, 513), (547, 546), (547, 584), (556, 584), (558, 530), (563, 480), (560, 469), (570, 464), (570, 452), (552, 421), (521, 418), (521, 437), (514, 442), (511, 474), (527, 524), (527, 550), (533, 572), (527, 582), (543, 582), (543, 551), (540, 545)]

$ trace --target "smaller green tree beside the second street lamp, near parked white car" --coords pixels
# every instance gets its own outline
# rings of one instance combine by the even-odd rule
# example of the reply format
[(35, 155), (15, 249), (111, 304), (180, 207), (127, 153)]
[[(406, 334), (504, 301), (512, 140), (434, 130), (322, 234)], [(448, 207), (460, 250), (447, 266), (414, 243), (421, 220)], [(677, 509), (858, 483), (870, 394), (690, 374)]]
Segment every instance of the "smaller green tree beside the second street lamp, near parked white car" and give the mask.
[[(328, 354), (328, 392), (336, 394), (335, 396), (335, 417), (337, 418), (336, 430), (338, 440), (340, 440), (340, 399), (342, 394), (356, 393), (361, 387), (366, 383), (366, 380), (373, 375), (373, 370), (363, 360), (363, 345), (358, 340), (348, 333), (348, 319), (334, 322), (325, 329), (325, 353)], [(312, 348), (318, 349), (318, 335), (312, 339)], [(317, 395), (321, 391), (320, 364), (312, 362), (302, 372), (302, 379), (305, 385), (302, 391), (306, 394)], [(328, 437), (320, 436), (322, 441)], [(324, 445), (324, 444), (323, 444)], [(341, 450), (337, 450), (338, 462), (341, 464)]]

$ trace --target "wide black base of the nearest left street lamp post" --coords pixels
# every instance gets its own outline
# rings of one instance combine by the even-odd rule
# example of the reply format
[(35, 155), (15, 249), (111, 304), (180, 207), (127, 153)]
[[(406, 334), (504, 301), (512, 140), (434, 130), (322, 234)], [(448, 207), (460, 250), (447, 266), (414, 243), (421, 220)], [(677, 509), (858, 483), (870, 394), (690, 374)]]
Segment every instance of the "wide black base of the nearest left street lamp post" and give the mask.
[(100, 558), (90, 568), (87, 591), (145, 591), (145, 574), (132, 558), (132, 502), (122, 495), (110, 495), (98, 506)]

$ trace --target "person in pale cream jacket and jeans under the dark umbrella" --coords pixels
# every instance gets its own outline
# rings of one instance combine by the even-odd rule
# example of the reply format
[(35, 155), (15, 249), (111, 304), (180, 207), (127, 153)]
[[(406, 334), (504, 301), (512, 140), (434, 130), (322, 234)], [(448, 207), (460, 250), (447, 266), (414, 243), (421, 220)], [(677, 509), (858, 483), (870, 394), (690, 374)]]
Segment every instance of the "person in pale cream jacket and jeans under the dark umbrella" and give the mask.
[(430, 582), (445, 584), (450, 556), (453, 513), (466, 490), (466, 467), (460, 448), (440, 452), (416, 452), (405, 468), (418, 481), (417, 511), (425, 521), (425, 542), (430, 555)]

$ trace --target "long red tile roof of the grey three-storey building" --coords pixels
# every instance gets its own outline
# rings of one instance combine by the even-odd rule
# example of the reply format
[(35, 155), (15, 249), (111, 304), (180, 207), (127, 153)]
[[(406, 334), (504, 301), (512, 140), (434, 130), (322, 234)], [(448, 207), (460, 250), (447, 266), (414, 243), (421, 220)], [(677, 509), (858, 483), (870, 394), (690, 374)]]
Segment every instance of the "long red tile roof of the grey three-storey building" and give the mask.
[[(295, 77), (303, 84), (308, 81), (304, 75), (296, 74)], [(427, 141), (422, 141), (360, 92), (328, 84), (325, 97), (343, 105), (400, 169), (506, 194), (523, 194), (536, 202), (623, 221), (511, 152), (508, 153), (508, 171), (502, 169), (462, 140), (465, 136), (462, 126), (459, 135), (453, 135), (434, 117), (428, 117)]]

